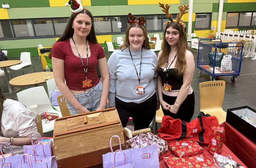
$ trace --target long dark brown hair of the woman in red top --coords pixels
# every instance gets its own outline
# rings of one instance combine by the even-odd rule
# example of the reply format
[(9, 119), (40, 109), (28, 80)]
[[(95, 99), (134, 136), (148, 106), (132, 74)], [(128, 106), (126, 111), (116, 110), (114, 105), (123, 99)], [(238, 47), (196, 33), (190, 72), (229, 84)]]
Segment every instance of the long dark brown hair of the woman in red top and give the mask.
[[(90, 41), (91, 43), (98, 43), (97, 39), (96, 39), (96, 35), (95, 35), (95, 31), (94, 31), (94, 24), (93, 24), (93, 15), (90, 11), (88, 11), (87, 9), (83, 9), (81, 12), (78, 13), (72, 13), (71, 16), (68, 19), (68, 24), (63, 32), (63, 34), (60, 36), (60, 38), (56, 41), (56, 43), (58, 43), (59, 41), (65, 41), (67, 39), (70, 39), (71, 37), (73, 37), (74, 34), (74, 29), (71, 27), (73, 24), (74, 19), (76, 18), (76, 16), (79, 13), (83, 13), (88, 15), (91, 18), (92, 21), (92, 28), (91, 31), (89, 33), (89, 35), (86, 37), (86, 40)], [(52, 50), (49, 53), (49, 58), (52, 59)]]

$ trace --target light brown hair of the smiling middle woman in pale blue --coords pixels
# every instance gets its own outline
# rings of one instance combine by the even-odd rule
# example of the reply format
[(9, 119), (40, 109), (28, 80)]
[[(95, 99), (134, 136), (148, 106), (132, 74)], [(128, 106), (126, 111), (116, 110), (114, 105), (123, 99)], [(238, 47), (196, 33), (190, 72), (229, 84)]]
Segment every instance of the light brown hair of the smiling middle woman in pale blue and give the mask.
[(145, 40), (143, 41), (142, 47), (145, 48), (145, 49), (150, 49), (147, 30), (146, 30), (144, 25), (141, 25), (139, 23), (132, 23), (132, 24), (128, 25), (128, 27), (127, 27), (127, 29), (125, 31), (125, 37), (124, 37), (123, 44), (120, 46), (119, 49), (121, 49), (123, 51), (124, 49), (126, 49), (126, 48), (128, 48), (130, 46), (129, 31), (133, 27), (138, 27), (138, 28), (141, 28), (143, 30), (143, 35), (145, 36)]

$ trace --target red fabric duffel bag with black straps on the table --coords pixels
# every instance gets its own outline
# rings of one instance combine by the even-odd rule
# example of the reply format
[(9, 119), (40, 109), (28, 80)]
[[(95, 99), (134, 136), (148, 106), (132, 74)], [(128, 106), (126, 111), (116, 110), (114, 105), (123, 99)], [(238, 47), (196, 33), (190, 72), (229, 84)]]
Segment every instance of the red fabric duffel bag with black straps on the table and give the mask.
[(200, 112), (198, 117), (190, 123), (173, 119), (170, 116), (163, 116), (158, 134), (166, 142), (182, 139), (208, 144), (213, 126), (219, 126), (218, 119), (209, 114), (205, 115), (203, 112)]

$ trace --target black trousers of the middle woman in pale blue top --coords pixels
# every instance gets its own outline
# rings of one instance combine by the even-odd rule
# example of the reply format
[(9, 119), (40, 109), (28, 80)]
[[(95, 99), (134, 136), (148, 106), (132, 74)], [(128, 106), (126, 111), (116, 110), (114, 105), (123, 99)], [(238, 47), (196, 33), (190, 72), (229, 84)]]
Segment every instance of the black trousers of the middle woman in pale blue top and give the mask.
[(156, 114), (156, 93), (141, 103), (126, 103), (118, 98), (115, 100), (123, 128), (126, 127), (129, 117), (133, 117), (134, 130), (148, 128)]

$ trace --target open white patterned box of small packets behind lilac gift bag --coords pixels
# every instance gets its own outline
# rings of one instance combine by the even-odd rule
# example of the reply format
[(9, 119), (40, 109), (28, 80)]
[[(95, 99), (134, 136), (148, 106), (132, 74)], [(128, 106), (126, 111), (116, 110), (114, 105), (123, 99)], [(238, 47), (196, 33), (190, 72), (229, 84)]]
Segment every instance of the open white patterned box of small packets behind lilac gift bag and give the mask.
[[(168, 151), (168, 143), (166, 141), (164, 141), (163, 139), (159, 138), (158, 136), (156, 136), (153, 133), (147, 133), (147, 136), (144, 136), (143, 138), (141, 138), (141, 147), (146, 147), (148, 146), (147, 143), (149, 143), (149, 145), (154, 145), (157, 144), (157, 151), (158, 151), (158, 157), (162, 156), (165, 152)], [(139, 147), (139, 136), (135, 136), (131, 139), (129, 139), (128, 141), (126, 141), (127, 144), (127, 148), (131, 149), (131, 148), (138, 148)]]

